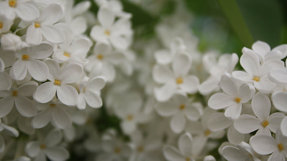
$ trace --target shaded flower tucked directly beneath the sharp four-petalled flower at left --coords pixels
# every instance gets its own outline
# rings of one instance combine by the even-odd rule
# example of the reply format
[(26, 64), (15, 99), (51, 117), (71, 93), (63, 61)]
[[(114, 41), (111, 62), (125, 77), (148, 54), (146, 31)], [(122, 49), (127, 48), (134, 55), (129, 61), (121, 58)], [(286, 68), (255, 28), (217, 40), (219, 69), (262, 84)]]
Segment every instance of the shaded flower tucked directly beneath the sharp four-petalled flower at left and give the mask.
[(38, 104), (37, 109), (41, 112), (36, 114), (31, 122), (36, 129), (45, 127), (50, 120), (59, 129), (67, 129), (72, 124), (71, 116), (67, 113), (71, 107), (62, 104), (60, 101)]

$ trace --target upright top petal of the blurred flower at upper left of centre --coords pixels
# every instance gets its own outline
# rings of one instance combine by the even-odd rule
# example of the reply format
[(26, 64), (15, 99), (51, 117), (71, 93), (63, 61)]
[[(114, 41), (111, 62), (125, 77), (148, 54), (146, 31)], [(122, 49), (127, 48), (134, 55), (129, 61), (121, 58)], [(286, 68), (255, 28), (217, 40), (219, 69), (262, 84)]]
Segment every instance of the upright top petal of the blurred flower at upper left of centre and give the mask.
[(101, 25), (108, 29), (112, 26), (112, 23), (115, 21), (115, 15), (105, 6), (100, 7), (97, 17)]

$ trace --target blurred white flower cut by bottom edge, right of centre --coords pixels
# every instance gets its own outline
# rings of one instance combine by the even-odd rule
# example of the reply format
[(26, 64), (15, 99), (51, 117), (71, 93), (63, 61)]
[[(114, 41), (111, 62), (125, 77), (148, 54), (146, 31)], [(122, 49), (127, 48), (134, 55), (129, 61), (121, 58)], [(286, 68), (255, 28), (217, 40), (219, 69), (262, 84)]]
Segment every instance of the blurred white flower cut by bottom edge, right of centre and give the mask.
[(194, 161), (194, 157), (199, 153), (194, 153), (197, 148), (194, 144), (191, 134), (185, 133), (178, 139), (178, 149), (173, 146), (165, 145), (163, 147), (163, 155), (168, 161)]

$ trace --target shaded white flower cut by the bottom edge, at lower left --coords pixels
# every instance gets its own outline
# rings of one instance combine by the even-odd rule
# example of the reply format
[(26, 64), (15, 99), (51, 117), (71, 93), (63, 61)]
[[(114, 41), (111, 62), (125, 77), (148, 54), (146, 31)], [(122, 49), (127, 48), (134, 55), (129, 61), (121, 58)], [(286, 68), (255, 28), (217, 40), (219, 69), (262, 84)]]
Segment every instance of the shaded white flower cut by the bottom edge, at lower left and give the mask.
[(57, 144), (62, 139), (62, 134), (60, 130), (53, 129), (51, 130), (43, 142), (33, 141), (29, 142), (25, 151), (31, 158), (35, 158), (35, 160), (46, 160), (46, 156), (51, 161), (64, 161), (69, 157), (69, 153), (63, 147), (57, 147)]

